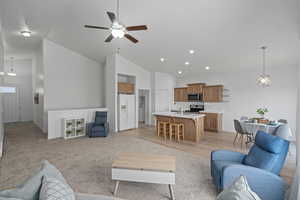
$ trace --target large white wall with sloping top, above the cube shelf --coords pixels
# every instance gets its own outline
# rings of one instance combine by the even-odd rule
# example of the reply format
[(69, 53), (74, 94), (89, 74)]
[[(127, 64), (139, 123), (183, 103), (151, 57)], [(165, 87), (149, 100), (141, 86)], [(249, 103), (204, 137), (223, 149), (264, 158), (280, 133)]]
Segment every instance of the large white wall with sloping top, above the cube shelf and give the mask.
[(103, 106), (104, 71), (99, 63), (45, 39), (43, 65), (46, 130), (48, 110)]

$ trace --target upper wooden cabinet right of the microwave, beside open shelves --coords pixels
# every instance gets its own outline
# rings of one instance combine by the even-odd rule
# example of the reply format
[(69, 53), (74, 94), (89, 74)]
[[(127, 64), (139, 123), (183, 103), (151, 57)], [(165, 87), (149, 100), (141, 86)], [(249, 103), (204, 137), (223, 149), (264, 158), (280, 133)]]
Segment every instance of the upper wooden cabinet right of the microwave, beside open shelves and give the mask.
[(223, 101), (223, 85), (210, 85), (203, 88), (204, 102), (222, 102)]

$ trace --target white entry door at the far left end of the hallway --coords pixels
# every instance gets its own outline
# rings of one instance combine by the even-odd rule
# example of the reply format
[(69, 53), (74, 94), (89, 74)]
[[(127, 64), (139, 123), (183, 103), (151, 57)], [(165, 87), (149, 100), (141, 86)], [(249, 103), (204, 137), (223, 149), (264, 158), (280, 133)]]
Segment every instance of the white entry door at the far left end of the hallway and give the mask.
[(3, 94), (3, 116), (4, 123), (21, 120), (18, 88), (16, 88), (16, 93)]

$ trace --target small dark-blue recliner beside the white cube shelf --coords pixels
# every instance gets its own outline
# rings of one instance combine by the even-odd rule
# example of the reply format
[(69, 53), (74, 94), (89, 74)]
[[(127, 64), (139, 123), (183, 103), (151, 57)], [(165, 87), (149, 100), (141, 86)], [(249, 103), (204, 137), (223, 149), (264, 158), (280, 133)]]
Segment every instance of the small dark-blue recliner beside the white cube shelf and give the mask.
[(107, 122), (107, 112), (96, 111), (95, 122), (87, 125), (87, 133), (89, 137), (106, 137), (109, 132)]

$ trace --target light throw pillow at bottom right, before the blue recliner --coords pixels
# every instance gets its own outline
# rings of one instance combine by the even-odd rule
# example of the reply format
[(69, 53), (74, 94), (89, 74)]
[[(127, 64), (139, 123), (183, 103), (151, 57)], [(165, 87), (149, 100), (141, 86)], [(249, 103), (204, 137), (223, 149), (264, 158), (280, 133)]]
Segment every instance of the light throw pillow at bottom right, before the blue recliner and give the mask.
[(247, 183), (245, 176), (240, 176), (234, 183), (224, 189), (217, 200), (261, 200)]

